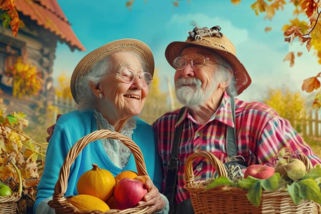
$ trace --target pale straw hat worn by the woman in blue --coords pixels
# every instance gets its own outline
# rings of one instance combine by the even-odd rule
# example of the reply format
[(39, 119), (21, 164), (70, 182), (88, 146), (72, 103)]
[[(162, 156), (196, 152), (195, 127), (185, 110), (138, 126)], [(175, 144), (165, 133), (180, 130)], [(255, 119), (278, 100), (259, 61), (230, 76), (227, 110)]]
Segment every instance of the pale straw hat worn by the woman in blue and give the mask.
[(143, 42), (139, 40), (134, 40), (132, 38), (126, 38), (123, 40), (116, 40), (110, 42), (102, 47), (99, 47), (90, 53), (88, 53), (84, 58), (78, 63), (76, 68), (74, 69), (71, 81), (70, 81), (70, 89), (73, 99), (76, 103), (78, 103), (77, 96), (77, 84), (79, 83), (80, 77), (86, 75), (89, 68), (91, 66), (101, 60), (106, 56), (111, 55), (115, 52), (118, 52), (119, 49), (122, 50), (131, 50), (136, 52), (139, 56), (142, 57), (142, 60), (146, 63), (147, 71), (154, 74), (154, 57), (150, 48)]

